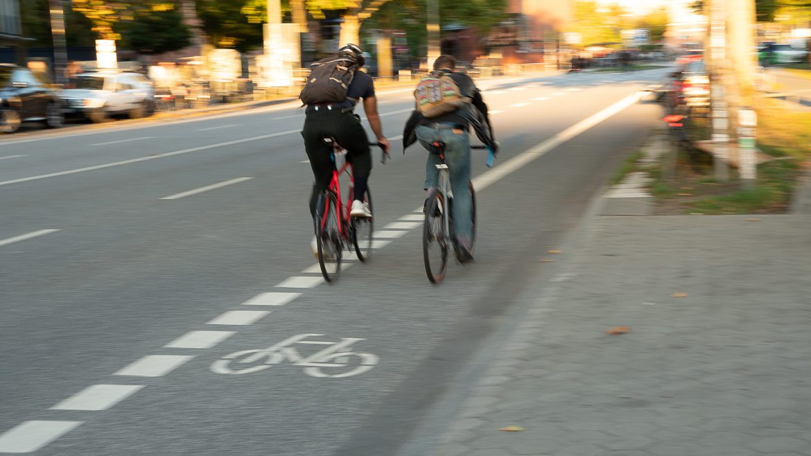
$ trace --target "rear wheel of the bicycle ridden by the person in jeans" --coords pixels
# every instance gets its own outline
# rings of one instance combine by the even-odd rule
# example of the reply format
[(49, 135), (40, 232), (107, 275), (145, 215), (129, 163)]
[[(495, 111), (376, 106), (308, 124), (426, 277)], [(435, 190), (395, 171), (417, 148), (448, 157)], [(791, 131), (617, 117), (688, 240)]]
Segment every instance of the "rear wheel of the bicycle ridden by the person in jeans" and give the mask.
[(442, 192), (428, 193), (423, 225), (423, 258), (431, 283), (442, 282), (448, 267), (448, 236), (445, 233), (445, 208)]

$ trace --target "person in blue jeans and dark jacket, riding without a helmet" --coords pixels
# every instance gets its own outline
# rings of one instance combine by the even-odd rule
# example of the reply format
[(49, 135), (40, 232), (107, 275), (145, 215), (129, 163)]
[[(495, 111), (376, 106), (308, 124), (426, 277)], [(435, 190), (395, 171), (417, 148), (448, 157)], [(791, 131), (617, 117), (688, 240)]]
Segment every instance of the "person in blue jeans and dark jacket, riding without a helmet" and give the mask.
[(487, 105), (484, 104), (482, 93), (470, 76), (457, 73), (457, 59), (453, 55), (440, 55), (434, 62), (434, 71), (449, 75), (457, 84), (461, 95), (469, 97), (471, 102), (461, 105), (457, 110), (437, 117), (425, 118), (418, 110), (414, 110), (403, 131), (403, 150), (418, 140), (429, 152), (425, 166), (425, 190), (436, 188), (439, 185), (440, 158), (433, 151), (431, 143), (444, 142), (445, 163), (450, 170), (450, 184), (453, 191), (453, 230), (457, 237), (461, 263), (473, 260), (470, 252), (473, 225), (471, 221), (470, 191), (470, 136), (468, 130), (473, 127), (476, 136), (494, 153), (498, 152), (496, 140), (487, 115)]

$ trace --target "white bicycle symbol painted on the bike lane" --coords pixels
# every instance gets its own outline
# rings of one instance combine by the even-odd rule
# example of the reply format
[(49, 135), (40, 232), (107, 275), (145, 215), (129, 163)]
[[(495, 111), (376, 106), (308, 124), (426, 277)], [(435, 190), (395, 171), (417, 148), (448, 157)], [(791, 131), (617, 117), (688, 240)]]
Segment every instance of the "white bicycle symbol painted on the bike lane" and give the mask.
[[(268, 348), (235, 351), (217, 359), (211, 365), (212, 372), (219, 374), (250, 374), (264, 371), (273, 364), (288, 361), (304, 368), (308, 376), (341, 378), (368, 372), (377, 365), (377, 355), (351, 351), (360, 338), (342, 338), (341, 342), (305, 340), (320, 338), (324, 334), (297, 334)], [(302, 356), (294, 345), (322, 345), (324, 350), (309, 356)]]

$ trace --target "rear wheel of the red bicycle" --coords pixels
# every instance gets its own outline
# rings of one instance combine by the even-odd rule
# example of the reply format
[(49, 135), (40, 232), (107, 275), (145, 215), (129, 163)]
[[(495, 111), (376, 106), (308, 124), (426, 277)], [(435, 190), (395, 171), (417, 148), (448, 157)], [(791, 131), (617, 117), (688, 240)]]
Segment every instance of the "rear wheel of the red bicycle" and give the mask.
[(337, 197), (332, 191), (324, 191), (315, 206), (315, 240), (318, 244), (318, 264), (324, 280), (333, 282), (341, 274), (341, 232), (338, 226)]

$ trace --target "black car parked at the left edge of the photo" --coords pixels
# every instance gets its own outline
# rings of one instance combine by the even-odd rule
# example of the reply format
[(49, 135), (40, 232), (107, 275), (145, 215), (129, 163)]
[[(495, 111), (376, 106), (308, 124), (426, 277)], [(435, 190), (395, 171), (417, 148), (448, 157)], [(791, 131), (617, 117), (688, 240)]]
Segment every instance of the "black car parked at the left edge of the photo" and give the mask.
[(0, 133), (13, 133), (24, 122), (62, 127), (62, 101), (28, 68), (0, 64)]

